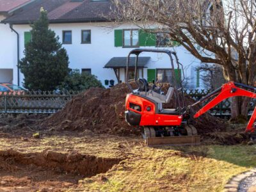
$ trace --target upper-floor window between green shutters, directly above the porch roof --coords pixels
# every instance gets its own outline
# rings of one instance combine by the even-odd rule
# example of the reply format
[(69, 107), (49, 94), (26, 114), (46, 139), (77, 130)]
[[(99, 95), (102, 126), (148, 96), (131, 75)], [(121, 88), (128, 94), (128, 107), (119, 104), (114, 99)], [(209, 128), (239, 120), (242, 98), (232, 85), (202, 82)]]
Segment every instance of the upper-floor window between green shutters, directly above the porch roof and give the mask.
[(124, 47), (138, 47), (139, 46), (139, 30), (125, 29), (123, 31), (123, 46)]

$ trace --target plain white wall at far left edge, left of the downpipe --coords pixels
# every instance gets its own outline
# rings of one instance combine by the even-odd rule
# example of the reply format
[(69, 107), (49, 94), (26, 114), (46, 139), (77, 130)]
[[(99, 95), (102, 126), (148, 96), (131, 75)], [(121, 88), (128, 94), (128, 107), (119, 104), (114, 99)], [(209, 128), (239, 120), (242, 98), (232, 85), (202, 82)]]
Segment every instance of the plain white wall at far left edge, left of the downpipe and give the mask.
[[(5, 17), (0, 15), (0, 21)], [(13, 69), (17, 65), (17, 36), (11, 32), (8, 24), (0, 24), (0, 70)], [(10, 70), (9, 70), (10, 71)], [(0, 73), (0, 79), (10, 75)], [(5, 79), (5, 78), (4, 78)], [(12, 79), (12, 76), (7, 79)], [(1, 80), (0, 80), (1, 82)]]

